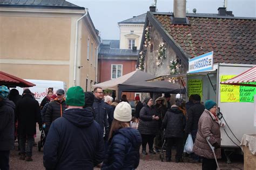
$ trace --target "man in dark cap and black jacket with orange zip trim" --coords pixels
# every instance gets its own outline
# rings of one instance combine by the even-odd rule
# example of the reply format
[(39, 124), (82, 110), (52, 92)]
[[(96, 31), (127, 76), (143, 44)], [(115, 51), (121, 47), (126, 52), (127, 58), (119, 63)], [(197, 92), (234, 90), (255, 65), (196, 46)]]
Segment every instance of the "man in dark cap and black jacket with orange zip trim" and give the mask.
[(57, 90), (57, 97), (53, 102), (48, 104), (47, 110), (45, 112), (45, 133), (48, 133), (50, 125), (55, 119), (62, 117), (62, 113), (66, 109), (65, 103), (65, 91), (63, 89)]

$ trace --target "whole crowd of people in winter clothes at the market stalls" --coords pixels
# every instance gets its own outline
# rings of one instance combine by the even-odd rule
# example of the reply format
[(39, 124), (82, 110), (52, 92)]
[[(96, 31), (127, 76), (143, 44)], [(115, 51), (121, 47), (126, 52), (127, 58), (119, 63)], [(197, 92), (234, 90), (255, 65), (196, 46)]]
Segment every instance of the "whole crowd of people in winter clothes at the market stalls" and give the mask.
[[(202, 162), (203, 169), (216, 169), (207, 140), (219, 159), (223, 123), (217, 117), (217, 104), (211, 100), (203, 104), (199, 95), (191, 95), (187, 103), (180, 96), (175, 102), (170, 99), (171, 95), (165, 94), (155, 101), (146, 97), (142, 102), (136, 96), (132, 118), (131, 105), (125, 95), (113, 101), (111, 96), (104, 96), (100, 87), (93, 92), (71, 87), (66, 94), (63, 89), (53, 94), (49, 88), (39, 105), (29, 89), (19, 95), (16, 89), (1, 86), (0, 169), (9, 169), (16, 133), (19, 159), (33, 160), (36, 123), (46, 136), (43, 146), (46, 169), (93, 169), (96, 166), (135, 169), (139, 165), (140, 146), (144, 155), (165, 150), (166, 161), (172, 160), (172, 147), (176, 146), (175, 162), (178, 163), (183, 161), (188, 134), (194, 142), (192, 161)], [(138, 126), (131, 128), (134, 119), (138, 120)]]

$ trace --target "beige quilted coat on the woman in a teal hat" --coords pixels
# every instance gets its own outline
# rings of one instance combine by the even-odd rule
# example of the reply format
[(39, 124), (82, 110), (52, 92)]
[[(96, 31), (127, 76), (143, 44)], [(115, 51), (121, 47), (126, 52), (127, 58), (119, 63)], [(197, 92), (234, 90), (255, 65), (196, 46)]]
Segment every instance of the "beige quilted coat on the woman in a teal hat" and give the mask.
[[(220, 145), (220, 125), (215, 118), (211, 116), (210, 111), (205, 109), (198, 122), (198, 132), (196, 141), (194, 142), (193, 151), (200, 157), (214, 159), (211, 147), (206, 141), (206, 137), (208, 136), (210, 136), (209, 141), (211, 144), (217, 142)], [(216, 158), (220, 159), (220, 148), (214, 151)]]

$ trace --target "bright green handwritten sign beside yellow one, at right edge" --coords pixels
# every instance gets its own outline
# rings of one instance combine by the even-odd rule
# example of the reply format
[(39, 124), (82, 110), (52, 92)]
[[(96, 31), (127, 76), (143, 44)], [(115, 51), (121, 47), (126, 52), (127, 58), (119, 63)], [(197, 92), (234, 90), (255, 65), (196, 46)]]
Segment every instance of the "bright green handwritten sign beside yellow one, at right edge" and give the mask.
[[(256, 84), (256, 82), (246, 83)], [(256, 87), (240, 86), (240, 102), (254, 102), (254, 95), (256, 95)]]

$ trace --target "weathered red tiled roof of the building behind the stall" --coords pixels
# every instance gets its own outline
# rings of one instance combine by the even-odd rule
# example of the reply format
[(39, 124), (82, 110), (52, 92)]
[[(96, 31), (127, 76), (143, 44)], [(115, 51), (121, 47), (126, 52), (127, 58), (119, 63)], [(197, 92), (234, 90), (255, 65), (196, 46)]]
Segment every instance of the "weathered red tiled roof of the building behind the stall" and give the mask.
[(213, 51), (214, 63), (256, 64), (255, 19), (187, 17), (190, 25), (174, 25), (171, 15), (154, 17), (192, 58)]

